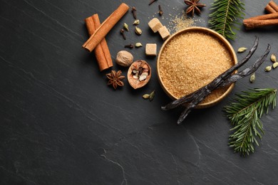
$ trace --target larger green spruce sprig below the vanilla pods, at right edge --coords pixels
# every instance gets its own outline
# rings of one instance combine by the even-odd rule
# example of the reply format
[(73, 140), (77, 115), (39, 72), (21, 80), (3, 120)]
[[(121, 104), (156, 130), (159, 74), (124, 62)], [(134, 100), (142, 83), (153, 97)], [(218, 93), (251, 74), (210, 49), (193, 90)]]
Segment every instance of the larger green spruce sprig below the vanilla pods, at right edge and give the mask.
[(262, 139), (264, 134), (260, 118), (263, 113), (268, 113), (269, 105), (272, 109), (276, 106), (276, 92), (272, 88), (253, 89), (237, 95), (236, 102), (224, 107), (228, 119), (234, 126), (230, 134), (230, 147), (243, 156), (254, 152), (254, 143), (259, 146), (256, 137)]

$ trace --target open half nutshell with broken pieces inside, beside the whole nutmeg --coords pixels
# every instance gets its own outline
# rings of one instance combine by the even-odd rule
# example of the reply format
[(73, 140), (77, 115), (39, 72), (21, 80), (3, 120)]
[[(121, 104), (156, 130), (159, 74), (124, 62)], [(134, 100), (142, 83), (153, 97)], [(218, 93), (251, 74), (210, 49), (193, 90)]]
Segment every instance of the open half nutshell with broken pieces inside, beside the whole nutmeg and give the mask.
[(145, 60), (136, 60), (128, 69), (128, 83), (133, 89), (142, 88), (149, 82), (151, 75), (150, 65)]

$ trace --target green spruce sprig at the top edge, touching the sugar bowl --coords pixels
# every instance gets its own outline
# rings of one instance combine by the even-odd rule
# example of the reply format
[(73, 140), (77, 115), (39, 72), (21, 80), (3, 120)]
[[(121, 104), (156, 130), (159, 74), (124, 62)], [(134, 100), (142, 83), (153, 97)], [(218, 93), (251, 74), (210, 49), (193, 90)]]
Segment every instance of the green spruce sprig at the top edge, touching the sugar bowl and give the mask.
[(235, 40), (236, 33), (233, 29), (240, 25), (237, 19), (243, 18), (244, 4), (240, 0), (215, 0), (212, 3), (210, 28), (220, 33), (225, 38)]

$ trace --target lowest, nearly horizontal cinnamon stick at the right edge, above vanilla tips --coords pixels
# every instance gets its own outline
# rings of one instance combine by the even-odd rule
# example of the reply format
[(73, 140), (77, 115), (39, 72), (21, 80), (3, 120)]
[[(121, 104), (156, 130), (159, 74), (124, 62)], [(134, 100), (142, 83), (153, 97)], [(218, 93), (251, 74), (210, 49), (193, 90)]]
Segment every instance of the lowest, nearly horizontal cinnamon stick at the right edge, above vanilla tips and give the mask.
[(243, 24), (247, 30), (252, 28), (259, 28), (263, 26), (278, 26), (278, 18), (260, 20), (260, 19), (244, 19)]

